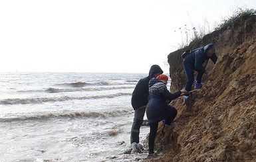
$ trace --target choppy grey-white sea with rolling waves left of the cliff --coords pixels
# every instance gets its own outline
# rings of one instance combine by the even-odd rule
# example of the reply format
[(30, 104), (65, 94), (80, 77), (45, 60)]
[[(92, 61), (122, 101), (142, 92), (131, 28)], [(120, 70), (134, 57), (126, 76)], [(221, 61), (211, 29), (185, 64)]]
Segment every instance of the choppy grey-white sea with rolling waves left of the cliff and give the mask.
[[(146, 73), (0, 73), (0, 161), (138, 161), (124, 154)], [(146, 115), (144, 116), (146, 118)], [(146, 139), (147, 126), (140, 130)]]

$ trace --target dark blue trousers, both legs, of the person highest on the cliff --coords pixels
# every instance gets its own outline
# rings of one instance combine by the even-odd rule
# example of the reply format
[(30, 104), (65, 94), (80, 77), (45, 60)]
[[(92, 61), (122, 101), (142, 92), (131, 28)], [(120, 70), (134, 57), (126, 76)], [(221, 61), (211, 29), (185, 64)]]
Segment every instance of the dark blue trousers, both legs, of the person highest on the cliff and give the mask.
[[(193, 65), (190, 63), (186, 63), (183, 62), (183, 67), (186, 73), (186, 77), (187, 77), (187, 83), (186, 83), (186, 91), (191, 91), (192, 90), (192, 85), (193, 85), (193, 81), (194, 81), (194, 74), (193, 74)], [(196, 76), (196, 81), (197, 83), (201, 83), (201, 77), (203, 76), (203, 73), (197, 73)]]

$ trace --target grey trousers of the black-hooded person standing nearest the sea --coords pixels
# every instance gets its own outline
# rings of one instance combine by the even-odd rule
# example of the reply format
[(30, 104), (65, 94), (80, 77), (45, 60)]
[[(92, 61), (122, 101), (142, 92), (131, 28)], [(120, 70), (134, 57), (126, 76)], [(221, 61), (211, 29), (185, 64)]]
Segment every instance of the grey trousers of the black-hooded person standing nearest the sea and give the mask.
[(134, 122), (132, 124), (132, 130), (130, 135), (131, 144), (134, 142), (140, 142), (140, 126), (142, 125), (143, 122), (145, 110), (146, 106), (143, 106), (134, 111)]

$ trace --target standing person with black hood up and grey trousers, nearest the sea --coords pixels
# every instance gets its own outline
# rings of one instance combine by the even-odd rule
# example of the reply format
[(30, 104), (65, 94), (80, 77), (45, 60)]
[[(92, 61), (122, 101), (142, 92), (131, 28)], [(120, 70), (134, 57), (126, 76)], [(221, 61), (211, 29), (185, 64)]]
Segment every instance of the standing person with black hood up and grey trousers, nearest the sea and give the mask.
[(148, 103), (148, 82), (153, 77), (162, 74), (159, 65), (152, 65), (148, 77), (140, 79), (132, 93), (132, 107), (134, 108), (134, 121), (130, 135), (130, 143), (139, 143), (140, 126), (142, 125), (146, 105)]

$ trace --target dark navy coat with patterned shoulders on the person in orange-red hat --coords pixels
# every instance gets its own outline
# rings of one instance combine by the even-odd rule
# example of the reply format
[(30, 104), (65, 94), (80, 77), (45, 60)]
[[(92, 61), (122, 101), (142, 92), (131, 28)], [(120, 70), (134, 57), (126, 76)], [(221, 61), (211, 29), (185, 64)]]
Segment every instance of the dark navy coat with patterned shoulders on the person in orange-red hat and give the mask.
[(156, 78), (150, 80), (149, 87), (146, 114), (148, 118), (148, 124), (151, 124), (154, 122), (160, 122), (164, 119), (167, 108), (170, 108), (168, 106), (168, 102), (166, 102), (166, 99), (172, 101), (180, 97), (182, 93), (181, 91), (170, 93), (166, 85)]

